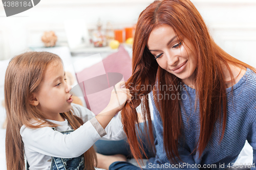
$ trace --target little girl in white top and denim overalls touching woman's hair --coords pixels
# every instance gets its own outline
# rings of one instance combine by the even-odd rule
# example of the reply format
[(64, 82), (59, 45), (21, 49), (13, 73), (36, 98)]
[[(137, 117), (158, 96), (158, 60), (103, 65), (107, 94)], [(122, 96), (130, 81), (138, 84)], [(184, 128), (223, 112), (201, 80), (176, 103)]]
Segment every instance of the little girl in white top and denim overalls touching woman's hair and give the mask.
[(71, 87), (57, 55), (28, 52), (14, 57), (5, 76), (7, 170), (24, 170), (24, 153), (29, 169), (94, 169), (93, 144), (104, 135), (121, 139), (120, 113), (114, 115), (131, 102), (122, 85), (115, 85), (110, 103), (95, 116), (71, 104)]

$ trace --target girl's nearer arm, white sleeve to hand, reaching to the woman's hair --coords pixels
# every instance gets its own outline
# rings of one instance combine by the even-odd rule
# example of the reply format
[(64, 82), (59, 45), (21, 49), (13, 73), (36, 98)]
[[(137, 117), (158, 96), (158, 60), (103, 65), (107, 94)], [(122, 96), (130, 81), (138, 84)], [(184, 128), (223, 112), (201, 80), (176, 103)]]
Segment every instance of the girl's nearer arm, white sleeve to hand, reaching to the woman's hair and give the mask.
[[(99, 133), (97, 128), (105, 128), (111, 118), (122, 109), (125, 102), (131, 101), (129, 91), (120, 88), (122, 84), (124, 82), (116, 85), (116, 90), (113, 90), (114, 92), (111, 94), (110, 104), (100, 113), (101, 115), (95, 116), (68, 135), (53, 131), (51, 127), (30, 129), (23, 126), (20, 129), (20, 135), (24, 147), (32, 152), (53, 157), (74, 158), (80, 156), (104, 135)], [(98, 125), (102, 127), (97, 127)]]

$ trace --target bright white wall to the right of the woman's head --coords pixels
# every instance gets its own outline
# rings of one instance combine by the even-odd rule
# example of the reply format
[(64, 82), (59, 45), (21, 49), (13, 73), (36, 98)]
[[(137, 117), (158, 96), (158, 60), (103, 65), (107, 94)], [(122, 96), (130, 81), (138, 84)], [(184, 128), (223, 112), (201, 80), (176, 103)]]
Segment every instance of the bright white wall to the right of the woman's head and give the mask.
[(193, 1), (214, 37), (233, 57), (256, 67), (256, 1)]

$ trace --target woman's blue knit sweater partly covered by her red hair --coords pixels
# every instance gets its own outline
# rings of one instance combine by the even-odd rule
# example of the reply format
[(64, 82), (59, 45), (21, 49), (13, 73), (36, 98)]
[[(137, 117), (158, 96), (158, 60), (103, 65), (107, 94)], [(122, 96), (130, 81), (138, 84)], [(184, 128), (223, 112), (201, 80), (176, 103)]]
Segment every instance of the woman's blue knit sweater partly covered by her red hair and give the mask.
[[(208, 165), (210, 169), (222, 169), (224, 168), (223, 165), (225, 167), (233, 165), (232, 162), (236, 161), (246, 139), (253, 148), (253, 163), (255, 162), (256, 166), (256, 74), (251, 69), (247, 68), (245, 75), (237, 84), (233, 85), (233, 102), (231, 99), (231, 87), (226, 89), (227, 120), (224, 138), (219, 143), (219, 120), (217, 120), (218, 128), (215, 128), (212, 132), (212, 140), (208, 143), (200, 158), (198, 153), (191, 154), (196, 147), (200, 132), (199, 102), (195, 111), (196, 90), (184, 85), (181, 94), (183, 94), (182, 105), (184, 110), (181, 109), (181, 113), (184, 128), (182, 129), (183, 137), (179, 139), (179, 143), (182, 144), (179, 145), (178, 151), (182, 161), (187, 164), (182, 164), (182, 162), (180, 164), (169, 164), (164, 151), (161, 116), (154, 101), (152, 101), (154, 126), (157, 134), (155, 141), (157, 156), (149, 160), (151, 162), (147, 165), (149, 168), (199, 169), (200, 166), (203, 168)], [(151, 97), (152, 95), (151, 93)], [(239, 163), (245, 164), (248, 162)], [(181, 164), (184, 166), (181, 166)], [(256, 168), (251, 167), (251, 169)]]

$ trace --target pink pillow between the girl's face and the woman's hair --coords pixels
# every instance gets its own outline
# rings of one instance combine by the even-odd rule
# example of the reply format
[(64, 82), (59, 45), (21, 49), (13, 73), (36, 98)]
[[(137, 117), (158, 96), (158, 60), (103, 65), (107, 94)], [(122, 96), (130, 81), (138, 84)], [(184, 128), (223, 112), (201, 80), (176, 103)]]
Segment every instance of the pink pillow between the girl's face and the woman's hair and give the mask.
[[(104, 71), (102, 71), (102, 63)], [(84, 91), (87, 108), (94, 114), (100, 113), (110, 101), (113, 86), (120, 81), (127, 81), (132, 76), (132, 60), (123, 46), (88, 68), (76, 73), (77, 81)]]

